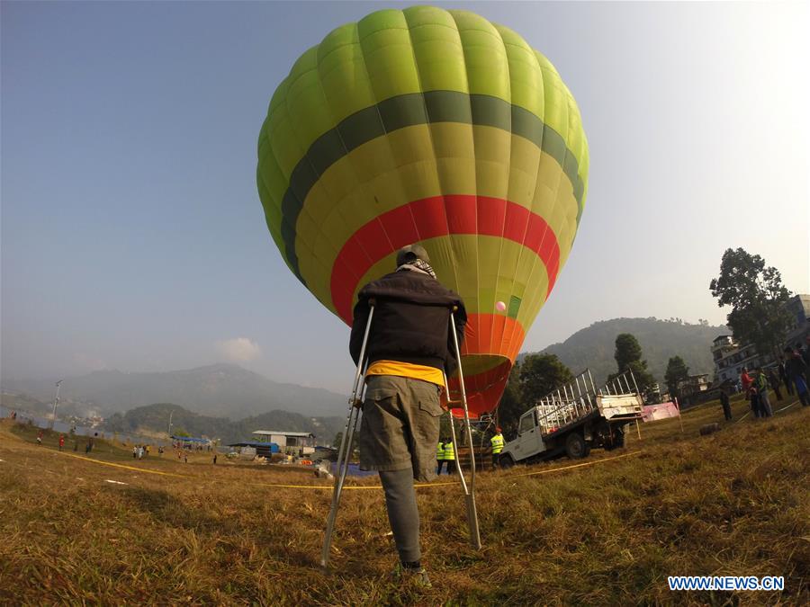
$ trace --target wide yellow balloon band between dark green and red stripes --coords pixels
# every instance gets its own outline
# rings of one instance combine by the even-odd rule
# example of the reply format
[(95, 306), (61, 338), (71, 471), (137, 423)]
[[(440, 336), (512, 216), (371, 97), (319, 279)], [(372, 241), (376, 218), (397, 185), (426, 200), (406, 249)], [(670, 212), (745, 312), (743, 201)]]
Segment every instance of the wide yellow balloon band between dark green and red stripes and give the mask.
[[(428, 149), (436, 150), (435, 159), (426, 155)], [(475, 192), (469, 192), (471, 185)], [(505, 198), (531, 210), (546, 220), (561, 252), (568, 254), (578, 204), (572, 183), (553, 157), (501, 129), (417, 125), (358, 147), (330, 166), (311, 189), (299, 216), (296, 249), (312, 293), (334, 312), (329, 280), (347, 240), (386, 211), (448, 192)], [(527, 272), (534, 257), (522, 253), (513, 261)]]

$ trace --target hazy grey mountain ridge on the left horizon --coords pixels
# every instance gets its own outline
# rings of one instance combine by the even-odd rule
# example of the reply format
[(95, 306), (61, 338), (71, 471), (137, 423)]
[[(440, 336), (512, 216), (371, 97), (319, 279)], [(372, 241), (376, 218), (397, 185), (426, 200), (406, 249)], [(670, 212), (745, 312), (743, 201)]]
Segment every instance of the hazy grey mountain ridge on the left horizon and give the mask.
[[(3, 388), (44, 402), (52, 402), (54, 397), (51, 381), (4, 381)], [(347, 402), (346, 397), (329, 390), (279, 383), (232, 364), (163, 373), (99, 370), (65, 379), (59, 397), (105, 416), (135, 406), (175, 403), (199, 414), (229, 419), (273, 410), (341, 415)]]

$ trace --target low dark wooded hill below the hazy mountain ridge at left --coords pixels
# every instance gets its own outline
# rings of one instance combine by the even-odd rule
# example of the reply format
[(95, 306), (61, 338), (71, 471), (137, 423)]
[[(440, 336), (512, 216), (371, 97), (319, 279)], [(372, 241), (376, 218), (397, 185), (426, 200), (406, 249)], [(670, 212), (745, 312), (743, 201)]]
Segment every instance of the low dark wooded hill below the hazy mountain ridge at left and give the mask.
[(200, 415), (182, 406), (169, 403), (139, 406), (124, 414), (117, 413), (107, 419), (103, 428), (110, 432), (166, 435), (169, 415), (174, 432), (184, 431), (192, 436), (218, 438), (223, 444), (251, 440), (256, 430), (282, 430), (311, 432), (319, 444), (330, 444), (335, 434), (343, 430), (346, 419), (335, 417), (306, 417), (288, 411), (270, 411), (246, 417), (236, 422), (227, 417)]

